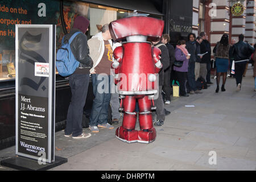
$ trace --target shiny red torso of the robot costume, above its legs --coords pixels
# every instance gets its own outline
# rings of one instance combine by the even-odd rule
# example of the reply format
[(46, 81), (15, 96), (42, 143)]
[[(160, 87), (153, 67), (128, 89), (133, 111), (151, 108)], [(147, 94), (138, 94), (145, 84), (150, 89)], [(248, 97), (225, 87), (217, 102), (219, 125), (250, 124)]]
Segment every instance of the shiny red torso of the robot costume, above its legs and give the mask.
[(123, 43), (123, 59), (119, 65), (119, 80), (122, 77), (125, 79), (119, 82), (119, 90), (130, 92), (155, 90), (156, 81), (148, 81), (148, 75), (155, 73), (156, 67), (150, 43)]

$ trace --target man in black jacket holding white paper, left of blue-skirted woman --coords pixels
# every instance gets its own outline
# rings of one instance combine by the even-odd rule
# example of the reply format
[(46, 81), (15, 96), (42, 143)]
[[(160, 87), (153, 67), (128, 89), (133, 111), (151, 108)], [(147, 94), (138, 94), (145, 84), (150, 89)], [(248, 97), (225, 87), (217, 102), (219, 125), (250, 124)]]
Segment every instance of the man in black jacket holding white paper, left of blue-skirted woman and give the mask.
[(210, 49), (210, 43), (207, 40), (207, 34), (205, 32), (201, 32), (200, 36), (203, 39), (203, 42), (200, 44), (200, 52), (208, 52), (201, 59), (200, 76), (202, 76), (207, 81), (207, 84), (213, 84), (210, 81), (210, 54), (212, 50)]

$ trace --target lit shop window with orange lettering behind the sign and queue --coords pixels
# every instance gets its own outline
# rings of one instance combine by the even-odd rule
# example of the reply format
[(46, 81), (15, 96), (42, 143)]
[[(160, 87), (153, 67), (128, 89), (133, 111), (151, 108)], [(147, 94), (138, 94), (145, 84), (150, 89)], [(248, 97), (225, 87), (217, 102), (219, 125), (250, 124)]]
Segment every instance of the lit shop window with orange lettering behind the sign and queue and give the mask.
[[(57, 24), (56, 49), (60, 47), (64, 36), (60, 17), (60, 1), (57, 0), (0, 0), (0, 88), (2, 81), (15, 80), (15, 24)], [(124, 18), (129, 10), (94, 5), (92, 3), (64, 1), (63, 18), (67, 32), (73, 26), (76, 16), (90, 20), (88, 39), (101, 31), (105, 23)], [(57, 79), (58, 80), (58, 79)], [(61, 78), (60, 78), (61, 80)]]

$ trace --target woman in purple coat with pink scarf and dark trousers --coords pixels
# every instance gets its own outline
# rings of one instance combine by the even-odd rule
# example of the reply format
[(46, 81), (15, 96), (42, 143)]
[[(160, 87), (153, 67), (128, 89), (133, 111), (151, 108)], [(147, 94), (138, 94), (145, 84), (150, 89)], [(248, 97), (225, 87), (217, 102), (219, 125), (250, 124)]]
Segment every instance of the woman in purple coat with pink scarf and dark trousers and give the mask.
[(183, 64), (181, 67), (176, 67), (174, 65), (175, 77), (176, 80), (180, 83), (180, 96), (188, 97), (185, 84), (187, 82), (187, 72), (188, 72), (188, 61), (189, 61), (189, 53), (185, 48), (185, 40), (179, 40), (177, 42), (177, 46), (175, 48), (175, 59), (176, 61), (182, 61)]

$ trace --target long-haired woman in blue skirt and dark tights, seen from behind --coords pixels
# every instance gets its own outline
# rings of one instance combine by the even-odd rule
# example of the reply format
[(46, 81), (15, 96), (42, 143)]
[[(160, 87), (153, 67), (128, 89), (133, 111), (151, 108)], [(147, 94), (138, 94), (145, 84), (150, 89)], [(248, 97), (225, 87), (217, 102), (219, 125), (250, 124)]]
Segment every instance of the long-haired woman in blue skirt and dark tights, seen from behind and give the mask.
[(222, 86), (221, 91), (225, 92), (225, 82), (226, 82), (226, 72), (229, 66), (229, 36), (223, 34), (220, 42), (217, 42), (213, 49), (215, 61), (216, 61), (216, 72), (217, 72), (217, 88), (216, 93), (218, 93), (220, 85), (220, 77), (222, 76)]

